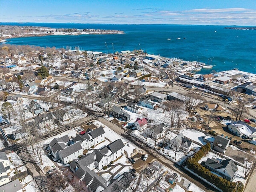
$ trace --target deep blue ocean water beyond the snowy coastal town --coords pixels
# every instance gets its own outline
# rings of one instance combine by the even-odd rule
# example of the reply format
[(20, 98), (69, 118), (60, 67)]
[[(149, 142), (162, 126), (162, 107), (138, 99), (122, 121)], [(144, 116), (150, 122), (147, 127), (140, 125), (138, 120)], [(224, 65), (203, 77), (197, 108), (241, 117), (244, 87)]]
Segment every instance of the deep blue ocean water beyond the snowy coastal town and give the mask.
[[(51, 28), (95, 28), (123, 30), (125, 34), (38, 36), (8, 39), (7, 44), (66, 48), (79, 46), (80, 50), (116, 52), (142, 49), (149, 54), (215, 65), (202, 69), (239, 68), (256, 74), (256, 30), (231, 30), (225, 26), (202, 25), (124, 25), (124, 24), (54, 24), (54, 23), (0, 23), (1, 25), (46, 26)], [(216, 31), (216, 32), (215, 32)], [(167, 40), (171, 38), (171, 40)], [(177, 40), (180, 38), (180, 40)], [(186, 39), (184, 39), (186, 38)], [(210, 58), (210, 60), (209, 60)]]

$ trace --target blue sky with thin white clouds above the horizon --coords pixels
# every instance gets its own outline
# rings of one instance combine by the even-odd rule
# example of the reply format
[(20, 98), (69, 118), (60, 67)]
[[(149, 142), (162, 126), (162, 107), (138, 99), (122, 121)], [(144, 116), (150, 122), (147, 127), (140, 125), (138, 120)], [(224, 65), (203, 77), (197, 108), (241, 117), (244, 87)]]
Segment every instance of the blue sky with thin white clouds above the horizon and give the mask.
[(0, 0), (0, 22), (256, 26), (256, 0)]

